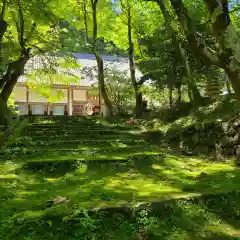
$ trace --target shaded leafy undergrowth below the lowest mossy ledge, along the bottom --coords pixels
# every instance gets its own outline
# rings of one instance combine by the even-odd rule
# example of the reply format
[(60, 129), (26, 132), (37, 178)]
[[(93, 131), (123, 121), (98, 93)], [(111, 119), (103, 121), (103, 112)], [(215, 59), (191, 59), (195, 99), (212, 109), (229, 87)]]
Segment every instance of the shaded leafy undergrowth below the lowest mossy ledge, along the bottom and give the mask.
[[(25, 212), (2, 221), (1, 239), (239, 239), (240, 194), (210, 195), (190, 200), (169, 200), (126, 214), (87, 212), (62, 206), (44, 214)], [(4, 216), (2, 216), (4, 217)]]

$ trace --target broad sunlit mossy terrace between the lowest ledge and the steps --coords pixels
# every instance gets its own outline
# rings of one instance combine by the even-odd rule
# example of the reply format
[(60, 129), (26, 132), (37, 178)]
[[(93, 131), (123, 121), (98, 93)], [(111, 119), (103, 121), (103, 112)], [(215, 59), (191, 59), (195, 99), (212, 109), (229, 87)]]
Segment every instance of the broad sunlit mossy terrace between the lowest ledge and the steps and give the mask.
[[(50, 174), (47, 177), (44, 171), (28, 170), (8, 174), (5, 169), (5, 174), (1, 175), (5, 180), (2, 187), (13, 188), (12, 194), (16, 197), (11, 201), (20, 201), (22, 206), (26, 204), (26, 209), (33, 207), (32, 201), (41, 206), (58, 195), (68, 197), (72, 204), (89, 201), (92, 205), (101, 200), (118, 204), (119, 200), (152, 201), (178, 194), (187, 196), (188, 193), (204, 194), (238, 189), (240, 171), (229, 164), (207, 163), (197, 158), (187, 161), (185, 157), (172, 155), (154, 160), (154, 155), (150, 156), (149, 159), (139, 162), (135, 159), (119, 166), (105, 162), (90, 165), (85, 163), (60, 177), (51, 177), (51, 171), (46, 173)], [(104, 155), (102, 157), (105, 158)], [(47, 160), (44, 159), (45, 161)], [(58, 171), (55, 167), (53, 171)], [(13, 168), (7, 169), (12, 171)], [(13, 186), (11, 180), (20, 181)]]

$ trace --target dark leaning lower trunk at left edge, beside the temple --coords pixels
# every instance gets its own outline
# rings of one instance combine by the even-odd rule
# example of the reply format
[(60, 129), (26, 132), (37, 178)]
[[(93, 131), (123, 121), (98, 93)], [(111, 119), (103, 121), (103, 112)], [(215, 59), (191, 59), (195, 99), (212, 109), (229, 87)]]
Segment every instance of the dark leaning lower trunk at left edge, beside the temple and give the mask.
[(0, 93), (0, 98), (7, 102), (10, 97), (14, 86), (17, 83), (18, 78), (24, 73), (24, 67), (29, 60), (29, 54), (25, 54), (20, 57), (17, 61), (12, 62), (8, 65), (8, 70), (6, 74), (0, 80), (1, 83), (4, 82), (3, 89)]

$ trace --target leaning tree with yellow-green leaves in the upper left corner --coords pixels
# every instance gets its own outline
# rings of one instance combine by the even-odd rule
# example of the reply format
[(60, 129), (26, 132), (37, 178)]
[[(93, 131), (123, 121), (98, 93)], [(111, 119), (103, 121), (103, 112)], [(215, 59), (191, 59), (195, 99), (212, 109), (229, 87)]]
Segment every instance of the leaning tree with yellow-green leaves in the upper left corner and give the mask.
[[(66, 4), (66, 1), (62, 4)], [(0, 79), (0, 97), (4, 102), (7, 102), (19, 76), (24, 73), (28, 60), (34, 55), (47, 52), (50, 54), (58, 48), (58, 22), (62, 12), (55, 11), (53, 14), (56, 10), (55, 3), (53, 0), (18, 0), (15, 4), (9, 3), (5, 13), (8, 28), (2, 43), (4, 48), (12, 41), (13, 47), (6, 51), (6, 68)], [(5, 52), (5, 49), (3, 50)]]

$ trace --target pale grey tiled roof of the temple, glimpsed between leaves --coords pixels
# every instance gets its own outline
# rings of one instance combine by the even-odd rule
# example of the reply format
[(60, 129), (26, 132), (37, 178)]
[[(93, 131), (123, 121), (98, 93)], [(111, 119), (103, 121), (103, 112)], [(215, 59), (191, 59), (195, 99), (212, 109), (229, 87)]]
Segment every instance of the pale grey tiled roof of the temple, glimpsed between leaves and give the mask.
[[(88, 67), (94, 67), (96, 66), (96, 60), (95, 56), (93, 54), (82, 54), (82, 53), (72, 53), (72, 55), (76, 58), (77, 62), (80, 64), (80, 68), (75, 69), (56, 69), (57, 71), (64, 71), (67, 74), (71, 74), (74, 76), (79, 77), (78, 81), (74, 81), (74, 83), (70, 83), (70, 85), (77, 85), (77, 86), (84, 86), (89, 87), (93, 84), (97, 83), (96, 73), (93, 74), (92, 71), (89, 74), (82, 74), (82, 71), (84, 69), (88, 69)], [(49, 58), (49, 57), (48, 57)], [(116, 68), (118, 71), (123, 72), (126, 71), (127, 74), (130, 76), (129, 71), (129, 63), (127, 58), (118, 57), (118, 56), (110, 56), (110, 55), (102, 55), (103, 61), (105, 64), (111, 64), (114, 68)], [(43, 68), (44, 65), (47, 65), (47, 60), (45, 60), (43, 57), (35, 57), (26, 65), (26, 71), (31, 71), (31, 69), (39, 69)], [(142, 74), (139, 70), (136, 71), (137, 78), (139, 78)], [(26, 76), (21, 76), (19, 78), (19, 82), (26, 82), (28, 79)]]

